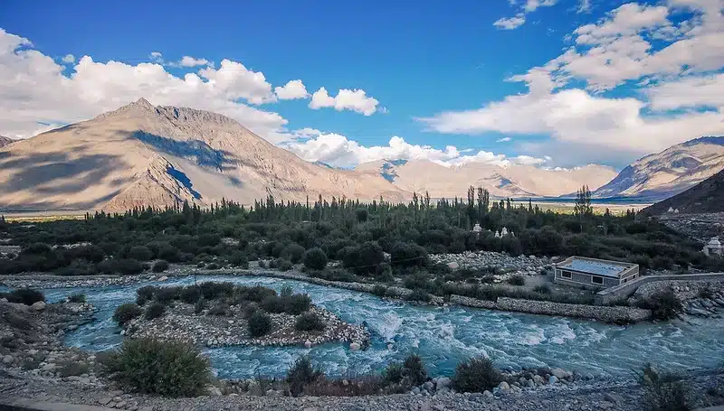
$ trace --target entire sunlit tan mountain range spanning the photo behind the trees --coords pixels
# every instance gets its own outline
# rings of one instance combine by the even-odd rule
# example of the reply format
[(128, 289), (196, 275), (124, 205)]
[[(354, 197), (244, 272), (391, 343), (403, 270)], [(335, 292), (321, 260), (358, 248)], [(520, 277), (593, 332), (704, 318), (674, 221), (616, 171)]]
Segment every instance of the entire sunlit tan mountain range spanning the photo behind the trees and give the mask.
[(269, 194), (284, 201), (407, 201), (415, 191), (464, 197), (471, 185), (493, 197), (555, 198), (588, 185), (596, 197), (660, 200), (722, 169), (724, 137), (674, 145), (617, 175), (595, 164), (563, 170), (395, 159), (344, 170), (304, 161), (229, 117), (141, 98), (25, 140), (0, 137), (0, 209), (119, 211), (222, 198), (251, 204)]

